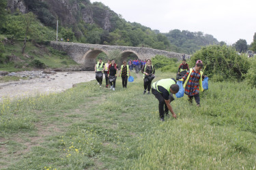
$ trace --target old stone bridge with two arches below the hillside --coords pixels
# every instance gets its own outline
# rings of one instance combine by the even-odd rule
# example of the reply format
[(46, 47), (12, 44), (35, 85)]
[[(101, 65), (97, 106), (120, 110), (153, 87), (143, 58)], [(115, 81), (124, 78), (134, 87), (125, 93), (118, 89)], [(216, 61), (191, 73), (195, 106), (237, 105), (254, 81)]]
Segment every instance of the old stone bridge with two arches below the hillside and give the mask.
[[(119, 50), (122, 53), (121, 61), (127, 60), (130, 54), (137, 55), (137, 57), (141, 60), (152, 58), (156, 56), (156, 54), (182, 60), (182, 54), (145, 47), (107, 46), (100, 44), (80, 44), (59, 41), (51, 41), (51, 47), (56, 50), (67, 52), (68, 56), (76, 61), (76, 63), (83, 65), (84, 69), (87, 71), (94, 70), (96, 57), (98, 54), (104, 52), (107, 56), (109, 56), (110, 52), (114, 50)], [(188, 58), (188, 55), (185, 55), (185, 58)]]

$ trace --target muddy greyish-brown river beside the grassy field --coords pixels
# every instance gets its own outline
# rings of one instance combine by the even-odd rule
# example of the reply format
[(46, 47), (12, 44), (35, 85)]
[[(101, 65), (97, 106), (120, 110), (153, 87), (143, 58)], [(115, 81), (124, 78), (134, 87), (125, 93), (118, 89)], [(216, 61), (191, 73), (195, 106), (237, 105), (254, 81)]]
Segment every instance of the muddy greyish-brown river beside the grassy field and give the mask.
[(94, 71), (69, 71), (57, 72), (46, 78), (0, 83), (0, 102), (4, 97), (15, 99), (41, 93), (63, 92), (72, 88), (73, 84), (91, 80), (95, 80)]

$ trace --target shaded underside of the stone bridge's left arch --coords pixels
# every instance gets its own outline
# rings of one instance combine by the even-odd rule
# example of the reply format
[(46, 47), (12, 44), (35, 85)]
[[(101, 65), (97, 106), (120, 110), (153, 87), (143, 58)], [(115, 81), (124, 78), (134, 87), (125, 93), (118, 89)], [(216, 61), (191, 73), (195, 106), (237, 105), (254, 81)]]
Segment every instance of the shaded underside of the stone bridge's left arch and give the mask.
[(108, 55), (109, 53), (104, 51), (104, 50), (100, 50), (100, 49), (93, 49), (93, 50), (88, 50), (82, 58), (82, 61), (85, 65), (85, 70), (94, 70), (94, 66), (96, 63), (96, 57), (98, 56), (98, 54), (104, 52), (106, 55)]

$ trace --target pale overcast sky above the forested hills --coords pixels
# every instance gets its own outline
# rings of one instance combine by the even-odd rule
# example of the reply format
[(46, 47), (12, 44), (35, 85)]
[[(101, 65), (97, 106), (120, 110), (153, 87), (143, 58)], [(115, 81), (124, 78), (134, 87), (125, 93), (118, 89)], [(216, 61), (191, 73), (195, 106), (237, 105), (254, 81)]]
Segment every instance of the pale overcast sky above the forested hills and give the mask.
[(256, 0), (91, 0), (108, 6), (128, 22), (138, 22), (160, 33), (180, 29), (213, 35), (231, 45), (253, 42)]

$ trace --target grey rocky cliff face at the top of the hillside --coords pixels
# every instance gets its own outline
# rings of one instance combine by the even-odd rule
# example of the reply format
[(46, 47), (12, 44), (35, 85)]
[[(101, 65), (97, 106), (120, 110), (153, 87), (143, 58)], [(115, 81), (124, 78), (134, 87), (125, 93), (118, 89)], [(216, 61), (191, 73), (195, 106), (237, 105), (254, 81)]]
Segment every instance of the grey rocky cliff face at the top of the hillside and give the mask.
[(8, 0), (8, 10), (13, 13), (17, 9), (23, 14), (33, 12), (42, 23), (50, 27), (55, 26), (58, 18), (64, 27), (83, 21), (111, 31), (115, 29), (115, 23), (111, 20), (118, 18), (109, 7), (102, 3), (91, 4), (89, 0)]

